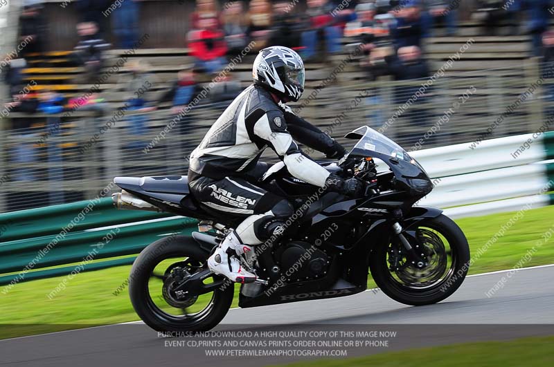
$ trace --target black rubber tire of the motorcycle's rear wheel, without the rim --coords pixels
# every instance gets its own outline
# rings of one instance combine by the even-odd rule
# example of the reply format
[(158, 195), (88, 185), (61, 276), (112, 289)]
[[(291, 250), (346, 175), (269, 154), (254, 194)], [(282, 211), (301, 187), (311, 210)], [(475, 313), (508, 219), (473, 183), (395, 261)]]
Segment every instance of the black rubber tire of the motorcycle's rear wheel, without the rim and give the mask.
[(213, 299), (206, 310), (183, 318), (163, 312), (152, 301), (148, 282), (154, 267), (167, 258), (182, 257), (205, 264), (208, 252), (186, 236), (169, 236), (151, 243), (133, 263), (129, 276), (129, 297), (136, 314), (150, 328), (161, 332), (197, 332), (210, 330), (225, 317), (233, 302), (234, 286), (215, 288)]

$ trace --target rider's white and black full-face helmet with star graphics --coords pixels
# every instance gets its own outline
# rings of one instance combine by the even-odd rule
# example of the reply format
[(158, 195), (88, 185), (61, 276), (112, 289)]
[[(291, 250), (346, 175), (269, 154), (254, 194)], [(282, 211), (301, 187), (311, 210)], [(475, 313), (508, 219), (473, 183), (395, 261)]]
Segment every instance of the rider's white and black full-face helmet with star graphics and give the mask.
[(283, 46), (260, 50), (252, 66), (254, 84), (294, 102), (304, 91), (304, 63), (298, 53)]

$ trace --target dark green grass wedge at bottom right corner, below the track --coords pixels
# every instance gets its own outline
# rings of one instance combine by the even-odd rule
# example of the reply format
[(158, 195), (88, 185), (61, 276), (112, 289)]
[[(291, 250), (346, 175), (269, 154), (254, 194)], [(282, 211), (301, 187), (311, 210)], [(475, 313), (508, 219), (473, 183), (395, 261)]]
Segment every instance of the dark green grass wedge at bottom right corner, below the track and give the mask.
[(512, 341), (484, 341), (433, 348), (386, 352), (367, 357), (319, 359), (287, 364), (287, 367), (441, 367), (503, 366), (542, 367), (552, 364), (554, 337), (530, 337)]

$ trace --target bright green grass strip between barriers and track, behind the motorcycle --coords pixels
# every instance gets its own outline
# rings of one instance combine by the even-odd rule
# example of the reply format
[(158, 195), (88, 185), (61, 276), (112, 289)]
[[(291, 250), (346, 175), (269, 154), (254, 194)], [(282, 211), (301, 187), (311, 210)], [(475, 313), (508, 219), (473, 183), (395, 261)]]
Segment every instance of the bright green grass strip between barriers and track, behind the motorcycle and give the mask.
[[(505, 225), (513, 213), (457, 220), (476, 254), (479, 248)], [(514, 267), (549, 229), (554, 227), (554, 206), (526, 211), (506, 234), (491, 245), (470, 268), (470, 274)], [(554, 240), (552, 241), (554, 242)], [(554, 246), (546, 243), (524, 267), (554, 263)], [(0, 287), (0, 339), (41, 332), (65, 330), (136, 321), (127, 289), (118, 296), (113, 292), (129, 275), (130, 266), (112, 267), (75, 276), (53, 299), (47, 294), (63, 277), (40, 279), (15, 285), (7, 294)], [(375, 287), (373, 280), (368, 282)], [(237, 304), (235, 297), (233, 306)], [(18, 324), (17, 327), (13, 326)]]

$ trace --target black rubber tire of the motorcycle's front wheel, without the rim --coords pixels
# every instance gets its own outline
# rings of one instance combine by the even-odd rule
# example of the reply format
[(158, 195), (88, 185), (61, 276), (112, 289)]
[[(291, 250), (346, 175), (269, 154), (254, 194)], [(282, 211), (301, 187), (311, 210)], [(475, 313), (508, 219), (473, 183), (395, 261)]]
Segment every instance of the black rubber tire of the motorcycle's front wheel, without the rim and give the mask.
[(470, 247), (462, 230), (454, 220), (444, 214), (436, 218), (422, 220), (418, 228), (433, 229), (448, 241), (452, 264), (444, 279), (429, 286), (403, 285), (393, 276), (389, 268), (388, 252), (390, 244), (380, 245), (370, 254), (369, 266), (377, 286), (391, 299), (406, 305), (429, 305), (443, 301), (462, 285), (470, 263)]

